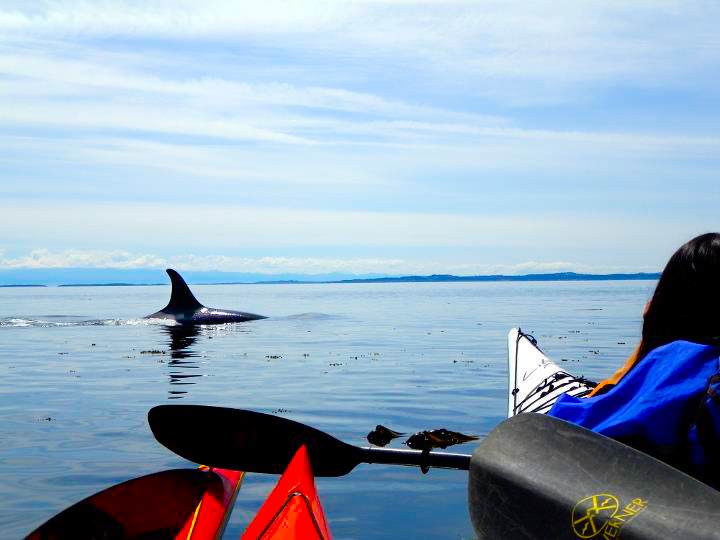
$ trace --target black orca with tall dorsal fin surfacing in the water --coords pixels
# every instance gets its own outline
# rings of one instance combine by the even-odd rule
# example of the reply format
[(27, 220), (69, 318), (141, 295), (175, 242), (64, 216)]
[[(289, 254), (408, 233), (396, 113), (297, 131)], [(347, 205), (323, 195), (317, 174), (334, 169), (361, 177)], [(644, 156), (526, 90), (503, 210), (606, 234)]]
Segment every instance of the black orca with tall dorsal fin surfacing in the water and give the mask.
[(166, 272), (172, 282), (170, 302), (160, 311), (145, 317), (146, 319), (172, 319), (181, 324), (222, 324), (267, 319), (255, 313), (207, 308), (193, 296), (180, 274), (172, 268), (168, 268)]

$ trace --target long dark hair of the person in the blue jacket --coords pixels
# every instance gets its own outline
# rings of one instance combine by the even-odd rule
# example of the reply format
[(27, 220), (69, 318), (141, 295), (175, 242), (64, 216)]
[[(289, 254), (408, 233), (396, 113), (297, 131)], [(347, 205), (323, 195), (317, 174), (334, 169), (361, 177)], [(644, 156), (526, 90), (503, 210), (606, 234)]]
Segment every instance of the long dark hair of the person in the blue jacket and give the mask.
[(643, 317), (637, 359), (676, 340), (720, 345), (720, 234), (693, 238), (663, 270)]

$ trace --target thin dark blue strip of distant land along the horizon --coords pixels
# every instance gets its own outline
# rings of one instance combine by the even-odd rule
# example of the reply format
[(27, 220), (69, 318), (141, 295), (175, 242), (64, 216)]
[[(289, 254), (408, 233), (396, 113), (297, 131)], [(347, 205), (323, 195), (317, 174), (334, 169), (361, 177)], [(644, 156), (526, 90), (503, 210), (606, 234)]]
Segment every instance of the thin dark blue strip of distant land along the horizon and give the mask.
[[(312, 285), (337, 283), (448, 283), (448, 282), (525, 282), (525, 281), (639, 281), (656, 280), (659, 272), (638, 272), (634, 274), (578, 274), (575, 272), (558, 272), (554, 274), (525, 274), (521, 276), (488, 275), (488, 276), (454, 276), (451, 274), (433, 274), (430, 276), (399, 276), (379, 278), (341, 279), (334, 281), (312, 280), (276, 280), (276, 281), (232, 281), (218, 283), (193, 283), (193, 285)], [(58, 287), (155, 287), (163, 283), (65, 283)], [(48, 287), (47, 284), (0, 285), (2, 288), (17, 287)]]

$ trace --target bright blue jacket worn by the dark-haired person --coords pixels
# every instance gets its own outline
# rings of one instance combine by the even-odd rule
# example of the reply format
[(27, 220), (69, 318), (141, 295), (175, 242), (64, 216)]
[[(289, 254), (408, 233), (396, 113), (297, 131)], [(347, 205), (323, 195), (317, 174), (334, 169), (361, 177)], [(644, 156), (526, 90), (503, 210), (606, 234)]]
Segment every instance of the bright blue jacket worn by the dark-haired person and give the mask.
[(607, 393), (562, 395), (548, 414), (720, 487), (720, 347), (689, 341), (663, 345)]

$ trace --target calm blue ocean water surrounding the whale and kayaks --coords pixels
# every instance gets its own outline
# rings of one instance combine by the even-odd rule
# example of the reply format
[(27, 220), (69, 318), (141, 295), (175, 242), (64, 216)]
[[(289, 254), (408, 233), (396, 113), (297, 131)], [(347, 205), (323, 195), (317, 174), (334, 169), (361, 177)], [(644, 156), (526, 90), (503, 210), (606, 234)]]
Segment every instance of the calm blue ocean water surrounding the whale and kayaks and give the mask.
[[(198, 285), (205, 305), (269, 318), (194, 331), (142, 319), (169, 286), (0, 288), (0, 537), (112, 484), (192, 467), (154, 440), (158, 404), (279, 414), (355, 445), (376, 424), (484, 436), (506, 410), (511, 327), (601, 379), (635, 347), (654, 285)], [(225, 538), (276, 480), (247, 475)], [(336, 539), (474, 538), (461, 471), (361, 464), (317, 485)]]

